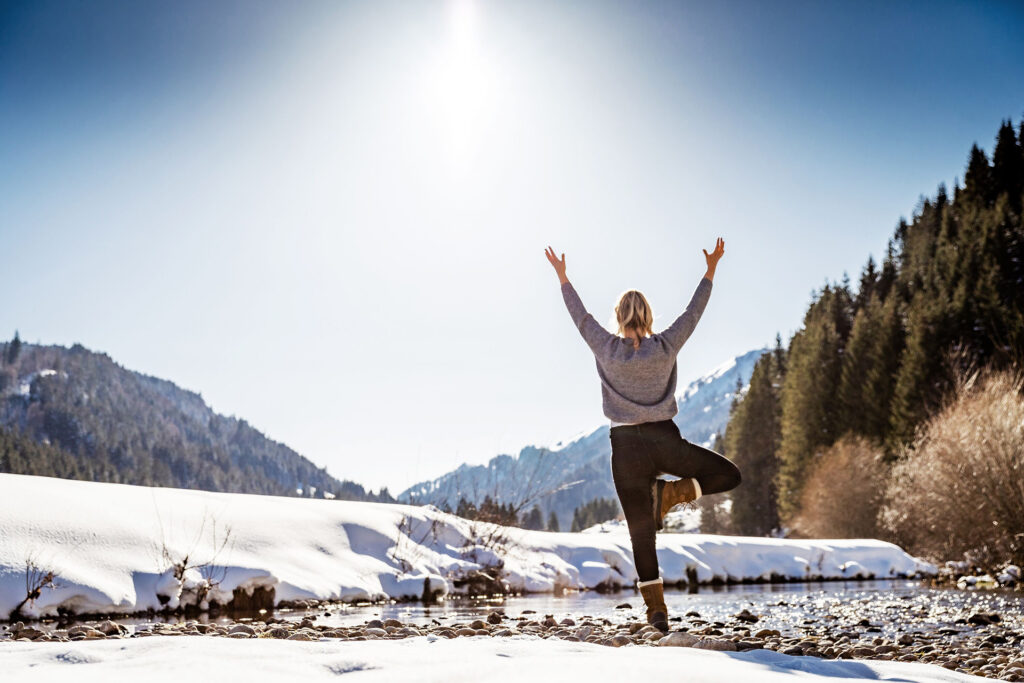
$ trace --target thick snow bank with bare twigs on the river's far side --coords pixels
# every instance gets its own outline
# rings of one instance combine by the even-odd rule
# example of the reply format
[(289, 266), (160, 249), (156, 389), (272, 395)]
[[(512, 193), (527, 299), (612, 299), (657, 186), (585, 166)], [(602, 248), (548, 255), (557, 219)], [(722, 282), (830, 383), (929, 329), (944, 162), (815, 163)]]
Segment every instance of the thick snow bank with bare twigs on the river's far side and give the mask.
[[(664, 533), (657, 544), (668, 583), (936, 572), (881, 541)], [(274, 604), (418, 598), (425, 589), (471, 590), (467, 580), (481, 570), (524, 592), (636, 581), (624, 527), (530, 531), (467, 521), (432, 506), (0, 474), (0, 618), (26, 597), (27, 575), (48, 571), (54, 586), (42, 588), (23, 614), (205, 606), (257, 589), (272, 589)]]

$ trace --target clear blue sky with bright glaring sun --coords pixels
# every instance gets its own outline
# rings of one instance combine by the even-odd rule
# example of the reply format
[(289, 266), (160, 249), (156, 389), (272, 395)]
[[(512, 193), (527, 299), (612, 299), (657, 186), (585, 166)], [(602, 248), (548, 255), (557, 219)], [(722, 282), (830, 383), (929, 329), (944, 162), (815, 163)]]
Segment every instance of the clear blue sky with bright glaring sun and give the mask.
[(604, 421), (544, 257), (680, 379), (784, 338), (1024, 114), (1024, 6), (0, 2), (0, 337), (392, 492)]

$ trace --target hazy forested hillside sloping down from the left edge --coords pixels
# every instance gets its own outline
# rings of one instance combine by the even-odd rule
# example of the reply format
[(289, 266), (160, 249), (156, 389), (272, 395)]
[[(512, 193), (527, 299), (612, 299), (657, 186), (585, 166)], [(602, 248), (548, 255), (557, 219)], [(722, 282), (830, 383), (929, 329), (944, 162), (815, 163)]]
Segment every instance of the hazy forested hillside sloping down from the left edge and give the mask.
[(198, 393), (76, 344), (0, 345), (0, 472), (345, 500), (339, 481)]

